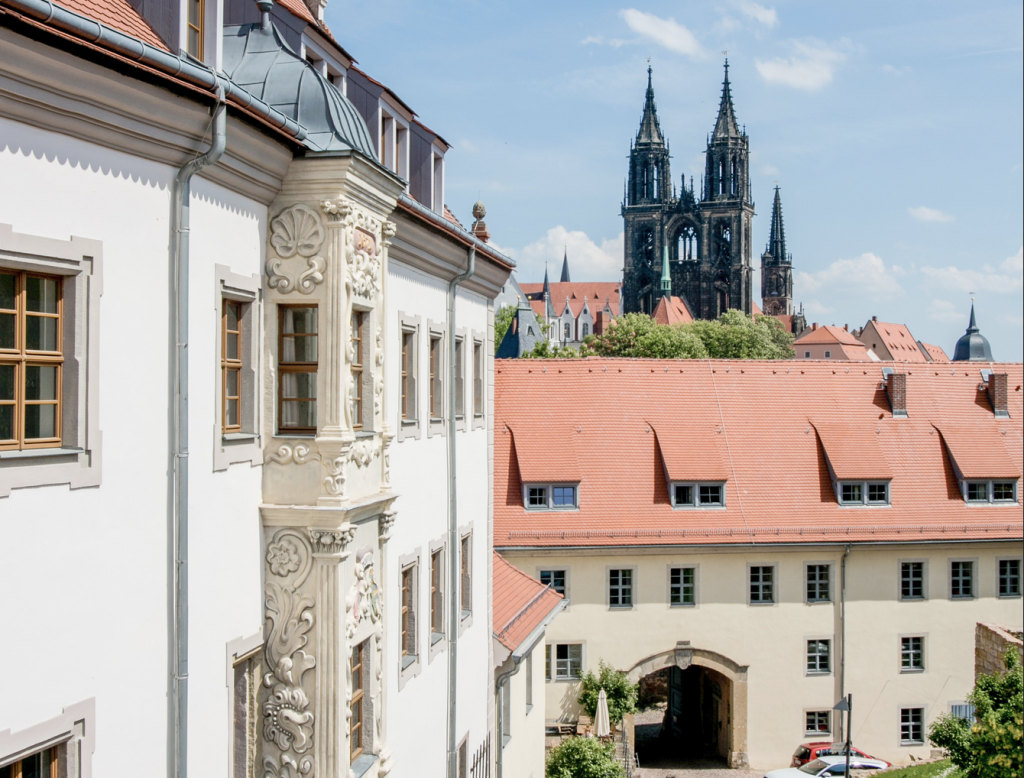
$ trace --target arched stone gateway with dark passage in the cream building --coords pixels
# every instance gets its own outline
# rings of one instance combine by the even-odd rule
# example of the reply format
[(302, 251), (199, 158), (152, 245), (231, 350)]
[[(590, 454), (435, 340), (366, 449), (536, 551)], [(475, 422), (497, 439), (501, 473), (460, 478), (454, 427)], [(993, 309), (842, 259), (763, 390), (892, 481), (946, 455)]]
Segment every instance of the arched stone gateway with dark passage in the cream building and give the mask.
[(731, 768), (749, 767), (746, 757), (746, 665), (716, 651), (678, 643), (641, 659), (632, 683), (668, 668), (666, 731), (683, 749), (718, 753)]

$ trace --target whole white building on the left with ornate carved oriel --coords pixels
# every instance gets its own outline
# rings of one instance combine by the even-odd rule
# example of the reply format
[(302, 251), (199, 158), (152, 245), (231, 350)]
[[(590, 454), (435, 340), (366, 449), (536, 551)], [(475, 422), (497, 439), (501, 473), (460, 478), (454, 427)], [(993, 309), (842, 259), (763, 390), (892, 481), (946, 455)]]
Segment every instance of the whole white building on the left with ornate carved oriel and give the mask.
[(488, 776), (512, 262), (322, 3), (155, 5), (0, 0), (0, 775)]

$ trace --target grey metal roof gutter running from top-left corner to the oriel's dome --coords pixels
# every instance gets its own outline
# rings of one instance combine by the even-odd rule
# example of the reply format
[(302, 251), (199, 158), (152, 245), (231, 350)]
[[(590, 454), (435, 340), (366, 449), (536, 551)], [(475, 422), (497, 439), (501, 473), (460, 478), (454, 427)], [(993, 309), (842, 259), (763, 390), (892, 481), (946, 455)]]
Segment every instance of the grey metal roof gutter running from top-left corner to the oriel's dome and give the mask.
[[(0, 4), (15, 9), (28, 18), (101, 46), (126, 59), (148, 66), (207, 91), (216, 93), (218, 89), (222, 89), (226, 98), (232, 103), (271, 127), (282, 130), (296, 140), (303, 140), (306, 137), (306, 129), (294, 119), (289, 119), (198, 60), (175, 56), (169, 51), (126, 35), (101, 21), (56, 5), (52, 0), (0, 0)], [(218, 101), (222, 101), (221, 98), (218, 97)]]

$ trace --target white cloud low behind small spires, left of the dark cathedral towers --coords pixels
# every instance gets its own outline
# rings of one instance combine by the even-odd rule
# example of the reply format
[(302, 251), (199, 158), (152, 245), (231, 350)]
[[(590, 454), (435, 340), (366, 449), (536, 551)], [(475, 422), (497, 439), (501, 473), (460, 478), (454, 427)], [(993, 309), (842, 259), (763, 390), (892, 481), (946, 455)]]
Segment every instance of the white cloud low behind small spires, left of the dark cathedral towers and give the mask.
[(568, 254), (569, 274), (573, 280), (620, 280), (623, 277), (625, 234), (604, 239), (600, 246), (582, 230), (568, 230), (559, 224), (540, 241), (522, 249), (505, 249), (518, 266), (519, 282), (528, 284), (544, 277), (544, 263), (555, 275), (561, 269), (562, 254)]

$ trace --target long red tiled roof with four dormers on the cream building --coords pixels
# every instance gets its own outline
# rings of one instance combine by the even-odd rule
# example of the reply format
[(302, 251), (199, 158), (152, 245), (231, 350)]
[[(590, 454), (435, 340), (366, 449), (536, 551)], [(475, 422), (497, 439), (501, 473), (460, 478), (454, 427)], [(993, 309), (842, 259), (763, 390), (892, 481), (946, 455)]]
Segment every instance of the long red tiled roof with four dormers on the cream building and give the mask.
[[(989, 366), (1009, 374), (1009, 419), (994, 418), (978, 388), (979, 370)], [(495, 371), (499, 549), (1024, 535), (1020, 504), (985, 510), (965, 504), (933, 427), (997, 436), (1020, 473), (1024, 375), (1019, 363), (911, 365), (905, 371), (905, 419), (892, 418), (882, 365), (876, 362), (591, 357), (498, 360)], [(651, 420), (656, 435), (647, 431)], [(673, 509), (658, 447), (687, 444), (680, 420), (707, 422), (716, 438), (722, 428), (725, 508)], [(834, 440), (833, 425), (845, 425), (848, 432)], [(825, 430), (823, 445), (816, 426)], [(524, 510), (519, 438), (509, 431), (520, 427), (539, 430), (529, 448), (530, 466), (540, 469), (532, 477), (543, 475), (545, 462), (558, 465), (568, 439), (574, 441), (578, 511)], [(867, 440), (874, 441), (872, 450)], [(706, 445), (695, 449), (694, 460), (707, 457)], [(892, 476), (891, 505), (840, 506), (826, 450), (844, 474), (848, 461), (858, 457), (878, 465), (865, 469), (869, 477), (883, 477), (884, 464)]]

